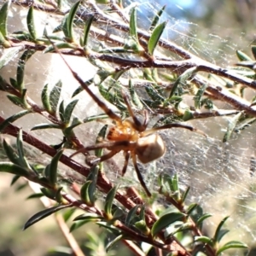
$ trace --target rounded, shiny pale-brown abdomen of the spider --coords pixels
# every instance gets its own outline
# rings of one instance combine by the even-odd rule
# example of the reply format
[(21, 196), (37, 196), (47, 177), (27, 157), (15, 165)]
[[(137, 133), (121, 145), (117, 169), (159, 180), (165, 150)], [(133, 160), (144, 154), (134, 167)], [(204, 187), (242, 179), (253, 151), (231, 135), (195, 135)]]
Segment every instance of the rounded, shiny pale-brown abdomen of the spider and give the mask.
[(143, 163), (147, 164), (154, 161), (166, 152), (166, 145), (158, 134), (151, 134), (147, 137), (141, 137), (137, 141), (135, 154)]

